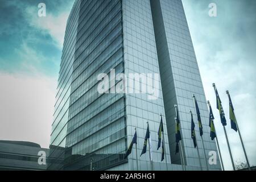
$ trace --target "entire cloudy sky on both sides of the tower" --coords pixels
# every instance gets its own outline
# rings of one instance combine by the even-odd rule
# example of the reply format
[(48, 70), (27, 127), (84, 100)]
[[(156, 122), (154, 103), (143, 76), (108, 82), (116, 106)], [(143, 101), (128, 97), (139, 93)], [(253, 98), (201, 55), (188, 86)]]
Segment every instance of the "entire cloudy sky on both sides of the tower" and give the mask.
[[(38, 4), (46, 4), (46, 17)], [(0, 140), (27, 140), (48, 148), (65, 24), (74, 0), (0, 2)], [(217, 16), (208, 5), (216, 3)], [(229, 90), (251, 165), (256, 166), (256, 1), (183, 0), (207, 100), (215, 82), (226, 113), (233, 158), (245, 161), (238, 133), (230, 129)], [(228, 148), (213, 108), (225, 169)]]

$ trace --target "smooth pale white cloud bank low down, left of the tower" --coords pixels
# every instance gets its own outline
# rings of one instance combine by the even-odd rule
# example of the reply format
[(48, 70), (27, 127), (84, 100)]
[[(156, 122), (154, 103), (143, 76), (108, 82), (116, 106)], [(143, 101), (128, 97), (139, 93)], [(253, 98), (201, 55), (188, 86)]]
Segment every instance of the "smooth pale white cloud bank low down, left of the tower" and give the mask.
[(49, 147), (56, 80), (0, 73), (0, 139)]

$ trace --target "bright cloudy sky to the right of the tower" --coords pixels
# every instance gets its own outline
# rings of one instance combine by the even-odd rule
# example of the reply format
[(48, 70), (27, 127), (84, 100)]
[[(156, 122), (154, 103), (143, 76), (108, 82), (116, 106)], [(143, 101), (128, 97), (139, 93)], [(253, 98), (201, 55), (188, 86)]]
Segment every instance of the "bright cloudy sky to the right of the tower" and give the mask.
[[(183, 1), (185, 14), (195, 47), (197, 62), (205, 95), (214, 106), (216, 131), (220, 140), (225, 169), (232, 169), (224, 131), (216, 109), (212, 83), (226, 113), (226, 127), (234, 160), (243, 160), (238, 133), (230, 129), (229, 102), (225, 93), (230, 91), (238, 125), (251, 165), (256, 165), (255, 142), (255, 1), (216, 1), (217, 17), (208, 16), (211, 1)], [(253, 51), (254, 50), (254, 51)]]

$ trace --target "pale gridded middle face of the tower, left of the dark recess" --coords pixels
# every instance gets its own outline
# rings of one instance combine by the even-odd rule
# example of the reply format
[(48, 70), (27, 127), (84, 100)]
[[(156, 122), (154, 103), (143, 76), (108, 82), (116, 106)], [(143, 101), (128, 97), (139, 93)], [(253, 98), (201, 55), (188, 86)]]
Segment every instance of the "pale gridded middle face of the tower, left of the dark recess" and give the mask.
[[(159, 73), (158, 56), (156, 53), (154, 26), (152, 22), (152, 13), (150, 1), (126, 0), (122, 2), (123, 8), (123, 43), (125, 73), (127, 82), (132, 77), (129, 73)], [(160, 76), (160, 75), (159, 75)], [(154, 81), (156, 78), (153, 78)], [(127, 140), (128, 143), (133, 138), (134, 128), (137, 128), (138, 151), (139, 154), (143, 148), (144, 137), (147, 129), (147, 121), (150, 127), (152, 161), (155, 170), (166, 170), (166, 164), (161, 163), (162, 150), (157, 149), (158, 129), (160, 124), (160, 114), (164, 115), (163, 96), (160, 78), (158, 79), (159, 96), (156, 100), (148, 100), (147, 94), (126, 94), (126, 114), (127, 114)], [(158, 81), (156, 80), (156, 81)], [(143, 84), (142, 82), (140, 84)], [(148, 84), (148, 83), (147, 83)], [(128, 85), (128, 89), (129, 89)], [(148, 86), (148, 85), (146, 85)], [(166, 120), (163, 116), (164, 131), (166, 129)], [(171, 164), (170, 152), (168, 148), (167, 133), (165, 136), (165, 146), (167, 154), (167, 163)], [(136, 170), (135, 148), (128, 156), (129, 170)], [(151, 170), (150, 158), (148, 152), (138, 158), (139, 169)], [(165, 160), (164, 160), (165, 161)], [(169, 169), (171, 166), (169, 167)], [(120, 168), (122, 169), (122, 168)]]

